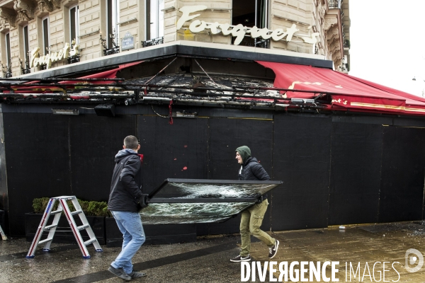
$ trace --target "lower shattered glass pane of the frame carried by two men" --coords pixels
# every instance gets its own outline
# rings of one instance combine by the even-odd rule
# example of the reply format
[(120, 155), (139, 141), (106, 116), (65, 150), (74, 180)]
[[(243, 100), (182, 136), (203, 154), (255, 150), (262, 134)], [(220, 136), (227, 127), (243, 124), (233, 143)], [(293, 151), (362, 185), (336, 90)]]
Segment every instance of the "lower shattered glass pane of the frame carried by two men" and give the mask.
[(143, 224), (222, 222), (250, 207), (252, 202), (151, 203), (140, 212)]

